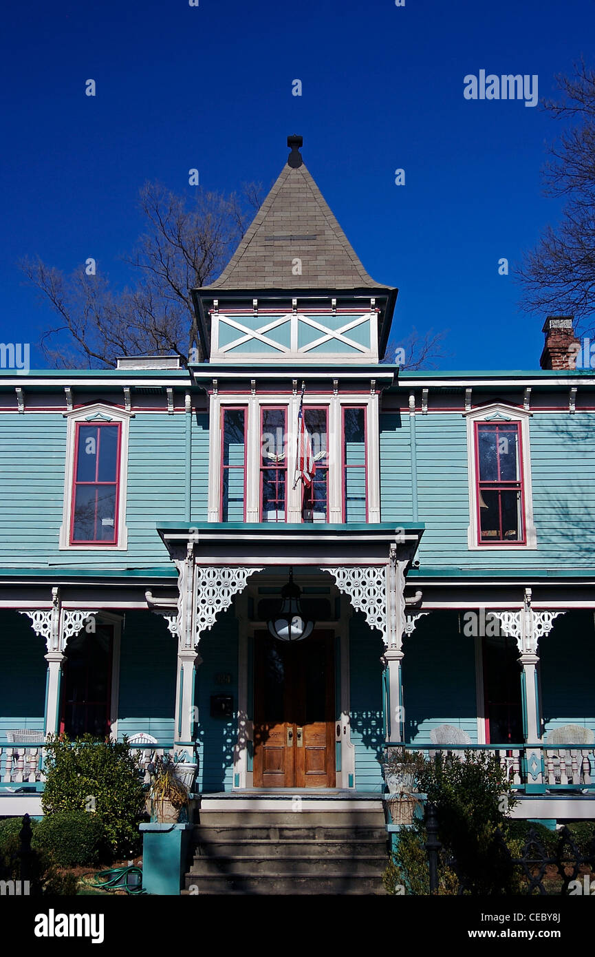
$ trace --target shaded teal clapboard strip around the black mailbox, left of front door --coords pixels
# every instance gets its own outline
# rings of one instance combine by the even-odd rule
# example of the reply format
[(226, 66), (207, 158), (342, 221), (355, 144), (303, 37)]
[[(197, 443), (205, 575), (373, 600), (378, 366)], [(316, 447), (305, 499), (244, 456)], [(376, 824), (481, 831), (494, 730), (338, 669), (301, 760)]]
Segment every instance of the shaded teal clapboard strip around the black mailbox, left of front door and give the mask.
[[(198, 650), (203, 663), (196, 670), (194, 700), (198, 704), (199, 789), (231, 790), (233, 748), (237, 742), (237, 619), (230, 609), (220, 615), (201, 637)], [(217, 675), (230, 675), (230, 684), (216, 683)], [(231, 718), (211, 718), (210, 696), (231, 695)]]

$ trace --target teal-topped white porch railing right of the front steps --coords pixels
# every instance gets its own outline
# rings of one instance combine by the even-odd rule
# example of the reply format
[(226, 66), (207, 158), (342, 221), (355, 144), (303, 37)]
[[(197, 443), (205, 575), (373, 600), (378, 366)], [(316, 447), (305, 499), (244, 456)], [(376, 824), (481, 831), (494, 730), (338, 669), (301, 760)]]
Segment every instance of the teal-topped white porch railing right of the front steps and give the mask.
[[(527, 752), (541, 757), (543, 787), (547, 790), (574, 788), (595, 790), (595, 745), (416, 745), (388, 742), (385, 748), (405, 747), (426, 757), (438, 753), (462, 756), (465, 751), (489, 751), (496, 757), (506, 778), (518, 790), (525, 790), (535, 781), (528, 768)], [(539, 766), (538, 766), (539, 767)]]

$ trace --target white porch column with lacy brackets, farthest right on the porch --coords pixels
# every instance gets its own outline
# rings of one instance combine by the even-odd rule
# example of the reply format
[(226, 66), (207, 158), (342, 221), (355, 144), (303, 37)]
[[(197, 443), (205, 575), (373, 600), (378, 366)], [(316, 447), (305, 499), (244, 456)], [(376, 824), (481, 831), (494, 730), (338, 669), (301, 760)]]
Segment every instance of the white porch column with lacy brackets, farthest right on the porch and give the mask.
[(522, 701), (522, 724), (525, 744), (525, 767), (527, 792), (542, 791), (545, 787), (541, 748), (540, 696), (537, 666), (538, 644), (542, 634), (549, 634), (554, 620), (564, 612), (534, 612), (531, 607), (531, 589), (525, 589), (523, 608), (520, 612), (496, 612), (502, 631), (516, 638), (522, 669), (520, 690)]

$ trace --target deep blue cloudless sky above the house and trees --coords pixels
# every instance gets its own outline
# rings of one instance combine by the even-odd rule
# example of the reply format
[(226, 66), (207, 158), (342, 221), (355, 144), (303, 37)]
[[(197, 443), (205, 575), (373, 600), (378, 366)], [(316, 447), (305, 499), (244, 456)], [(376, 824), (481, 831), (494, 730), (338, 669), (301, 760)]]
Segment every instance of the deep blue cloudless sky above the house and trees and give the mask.
[(594, 28), (591, 0), (5, 7), (1, 341), (28, 338), (42, 365), (51, 313), (20, 257), (71, 272), (93, 256), (121, 283), (145, 180), (190, 191), (197, 167), (205, 189), (268, 187), (296, 132), (365, 268), (400, 289), (394, 345), (411, 325), (449, 329), (440, 367), (539, 367), (542, 321), (518, 312), (497, 262), (513, 266), (560, 214), (540, 182), (558, 126), (522, 101), (465, 100), (463, 78), (537, 74), (552, 96), (556, 74), (593, 62)]

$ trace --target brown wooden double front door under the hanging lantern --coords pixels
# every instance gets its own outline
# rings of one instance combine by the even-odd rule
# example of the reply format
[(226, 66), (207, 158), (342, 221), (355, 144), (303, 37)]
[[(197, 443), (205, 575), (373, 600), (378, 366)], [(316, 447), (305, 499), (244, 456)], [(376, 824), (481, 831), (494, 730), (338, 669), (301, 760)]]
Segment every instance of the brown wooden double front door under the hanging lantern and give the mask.
[(255, 788), (335, 787), (334, 635), (254, 635)]

